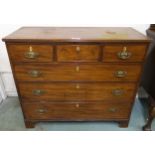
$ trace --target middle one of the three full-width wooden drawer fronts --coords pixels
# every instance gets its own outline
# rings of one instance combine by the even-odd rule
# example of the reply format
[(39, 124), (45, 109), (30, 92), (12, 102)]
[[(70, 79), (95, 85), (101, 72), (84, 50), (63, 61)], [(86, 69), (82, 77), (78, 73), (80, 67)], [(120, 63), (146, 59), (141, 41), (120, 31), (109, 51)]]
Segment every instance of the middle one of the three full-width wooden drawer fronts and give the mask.
[(23, 100), (131, 101), (134, 83), (19, 83)]

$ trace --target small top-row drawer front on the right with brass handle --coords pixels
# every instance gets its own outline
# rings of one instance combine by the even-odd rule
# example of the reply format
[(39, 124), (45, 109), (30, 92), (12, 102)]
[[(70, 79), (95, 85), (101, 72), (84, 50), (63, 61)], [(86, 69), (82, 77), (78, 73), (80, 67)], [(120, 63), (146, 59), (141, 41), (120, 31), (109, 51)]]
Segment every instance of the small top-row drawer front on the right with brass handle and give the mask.
[(146, 45), (105, 45), (103, 62), (142, 62), (145, 57)]

